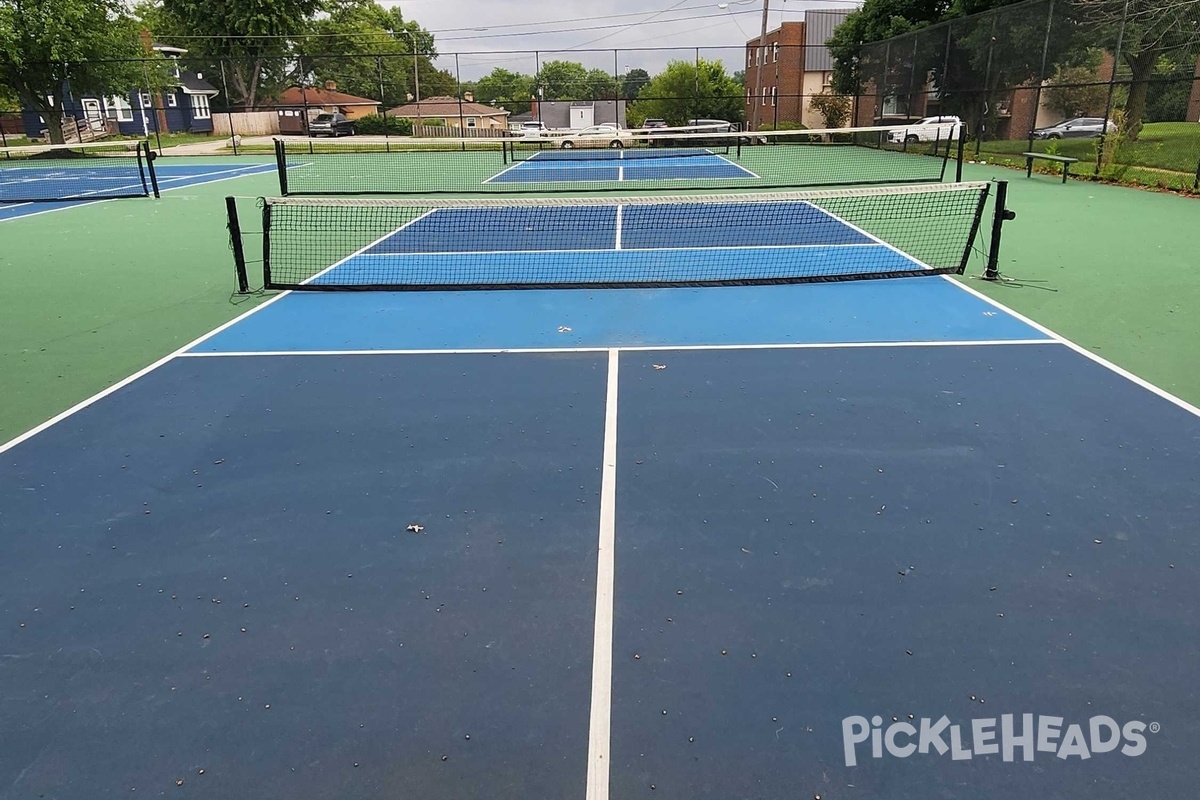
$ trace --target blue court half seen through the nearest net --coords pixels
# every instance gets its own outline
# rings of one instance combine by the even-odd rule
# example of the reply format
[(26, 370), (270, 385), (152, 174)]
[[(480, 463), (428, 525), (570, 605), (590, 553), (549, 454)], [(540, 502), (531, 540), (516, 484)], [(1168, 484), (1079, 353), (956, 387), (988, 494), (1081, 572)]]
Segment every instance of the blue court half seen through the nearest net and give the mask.
[(740, 263), (766, 279), (929, 269), (806, 203), (682, 203), (670, 219), (653, 205), (433, 209), (310, 283), (696, 282)]

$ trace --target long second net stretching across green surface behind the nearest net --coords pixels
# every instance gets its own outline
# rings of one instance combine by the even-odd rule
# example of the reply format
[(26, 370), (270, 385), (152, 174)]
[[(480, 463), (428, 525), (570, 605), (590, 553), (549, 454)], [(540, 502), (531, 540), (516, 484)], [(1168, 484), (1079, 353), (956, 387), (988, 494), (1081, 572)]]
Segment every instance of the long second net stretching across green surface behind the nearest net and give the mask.
[(275, 155), (283, 196), (788, 190), (955, 180), (958, 133), (946, 125), (277, 139)]

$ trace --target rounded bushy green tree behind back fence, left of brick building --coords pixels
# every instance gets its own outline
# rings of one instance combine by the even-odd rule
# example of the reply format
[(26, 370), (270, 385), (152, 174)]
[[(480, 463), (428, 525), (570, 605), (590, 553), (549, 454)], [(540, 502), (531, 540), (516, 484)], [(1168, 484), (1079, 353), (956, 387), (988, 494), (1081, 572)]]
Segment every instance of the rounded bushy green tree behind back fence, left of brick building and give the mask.
[(661, 118), (667, 125), (691, 119), (742, 121), (742, 89), (720, 61), (672, 61), (642, 86), (630, 109), (631, 124)]

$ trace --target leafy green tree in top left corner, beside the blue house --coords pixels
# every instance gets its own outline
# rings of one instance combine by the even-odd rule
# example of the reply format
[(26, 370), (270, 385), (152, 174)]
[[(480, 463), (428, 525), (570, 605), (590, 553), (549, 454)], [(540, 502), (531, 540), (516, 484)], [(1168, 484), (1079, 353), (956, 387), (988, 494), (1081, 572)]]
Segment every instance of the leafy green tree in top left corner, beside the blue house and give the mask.
[[(0, 0), (0, 84), (62, 144), (66, 92), (125, 95), (146, 83), (137, 22), (121, 0)], [(155, 67), (157, 65), (154, 65)], [(156, 68), (156, 74), (161, 72)]]

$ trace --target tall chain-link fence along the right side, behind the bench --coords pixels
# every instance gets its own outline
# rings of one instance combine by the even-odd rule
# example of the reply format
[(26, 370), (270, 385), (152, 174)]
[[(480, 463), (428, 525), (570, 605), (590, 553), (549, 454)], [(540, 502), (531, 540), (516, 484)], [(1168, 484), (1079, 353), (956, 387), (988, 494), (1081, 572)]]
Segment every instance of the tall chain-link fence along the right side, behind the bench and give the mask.
[(857, 67), (860, 125), (958, 116), (979, 161), (1200, 190), (1198, 0), (1030, 0), (871, 43)]

